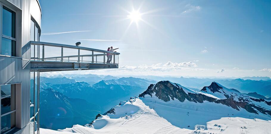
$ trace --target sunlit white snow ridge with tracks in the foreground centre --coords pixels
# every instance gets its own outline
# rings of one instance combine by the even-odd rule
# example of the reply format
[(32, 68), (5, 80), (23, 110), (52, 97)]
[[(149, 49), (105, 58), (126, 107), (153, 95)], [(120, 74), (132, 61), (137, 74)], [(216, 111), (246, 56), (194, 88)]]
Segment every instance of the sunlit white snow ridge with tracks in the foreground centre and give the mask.
[(59, 131), (76, 133), (190, 132), (190, 130), (173, 126), (138, 98), (122, 102), (122, 105), (113, 107), (113, 109), (115, 114), (102, 115), (94, 120), (92, 124), (86, 124), (85, 127), (74, 125), (72, 128)]

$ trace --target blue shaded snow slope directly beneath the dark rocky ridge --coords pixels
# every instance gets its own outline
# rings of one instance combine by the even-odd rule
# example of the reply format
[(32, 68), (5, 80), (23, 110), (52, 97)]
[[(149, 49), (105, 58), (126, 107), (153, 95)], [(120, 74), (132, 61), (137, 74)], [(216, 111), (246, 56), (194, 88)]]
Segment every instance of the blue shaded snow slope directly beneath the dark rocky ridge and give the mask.
[(159, 116), (169, 121), (172, 125), (191, 130), (194, 130), (195, 125), (206, 126), (207, 122), (219, 120), (222, 117), (242, 117), (248, 119), (250, 117), (252, 120), (254, 118), (271, 120), (270, 117), (263, 114), (256, 115), (254, 113), (249, 113), (242, 108), (238, 111), (226, 105), (207, 101), (203, 103), (195, 103), (187, 100), (185, 102), (180, 102), (175, 99), (170, 100), (169, 102), (164, 102), (156, 96), (145, 96), (145, 98), (140, 99), (145, 103), (145, 105), (154, 109)]

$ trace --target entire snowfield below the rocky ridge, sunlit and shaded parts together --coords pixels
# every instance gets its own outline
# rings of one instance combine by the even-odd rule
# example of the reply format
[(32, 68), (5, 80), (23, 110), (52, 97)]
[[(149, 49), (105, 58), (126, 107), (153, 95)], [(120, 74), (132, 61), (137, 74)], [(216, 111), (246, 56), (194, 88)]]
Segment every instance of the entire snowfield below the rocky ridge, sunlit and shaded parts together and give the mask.
[(64, 130), (40, 129), (40, 131), (42, 134), (271, 133), (271, 117), (255, 115), (244, 109), (238, 111), (222, 104), (179, 102), (177, 99), (164, 102), (155, 96), (136, 97), (121, 104), (113, 107), (115, 114), (98, 117), (92, 125), (77, 124)]

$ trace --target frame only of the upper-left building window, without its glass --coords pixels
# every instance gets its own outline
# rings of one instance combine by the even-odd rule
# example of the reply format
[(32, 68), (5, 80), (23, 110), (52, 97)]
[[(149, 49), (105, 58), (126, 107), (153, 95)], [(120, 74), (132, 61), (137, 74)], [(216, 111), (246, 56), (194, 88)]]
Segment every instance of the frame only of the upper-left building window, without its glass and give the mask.
[[(15, 13), (15, 38), (13, 38), (13, 37), (10, 37), (10, 36), (7, 36), (7, 35), (3, 35), (3, 9), (6, 9), (6, 10), (10, 10), (10, 11), (12, 11), (12, 12), (14, 12)], [(2, 38), (6, 38), (6, 39), (10, 39), (10, 40), (13, 40), (13, 41), (15, 41), (15, 48), (14, 48), (14, 50), (15, 50), (15, 55), (4, 55), (4, 56), (8, 56), (8, 57), (17, 57), (17, 37), (18, 37), (18, 34), (17, 34), (17, 32), (18, 32), (18, 29), (17, 29), (17, 18), (18, 18), (18, 16), (17, 16), (17, 11), (16, 10), (14, 10), (13, 8), (11, 8), (10, 6), (8, 6), (8, 5), (6, 5), (6, 4), (4, 4), (4, 3), (2, 3), (2, 2), (0, 2), (0, 24), (1, 24), (1, 29), (0, 29), (0, 34), (1, 34), (1, 39), (0, 39), (0, 52), (1, 52), (1, 49), (2, 49)], [(0, 55), (2, 55), (1, 53), (0, 53)]]

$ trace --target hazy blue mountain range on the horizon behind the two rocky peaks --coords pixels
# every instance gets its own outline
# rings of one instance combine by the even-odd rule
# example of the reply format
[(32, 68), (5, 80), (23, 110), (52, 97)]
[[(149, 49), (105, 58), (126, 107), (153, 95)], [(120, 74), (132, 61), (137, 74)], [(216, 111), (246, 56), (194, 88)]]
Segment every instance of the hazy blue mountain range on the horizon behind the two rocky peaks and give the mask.
[(142, 76), (155, 81), (169, 80), (175, 83), (181, 83), (183, 86), (193, 90), (200, 90), (205, 85), (210, 85), (212, 82), (218, 82), (228, 88), (234, 88), (241, 93), (257, 92), (264, 96), (271, 96), (271, 80), (269, 77), (243, 77), (238, 79), (221, 79), (221, 78), (194, 78), (194, 77), (157, 77), (157, 76)]

